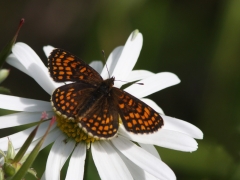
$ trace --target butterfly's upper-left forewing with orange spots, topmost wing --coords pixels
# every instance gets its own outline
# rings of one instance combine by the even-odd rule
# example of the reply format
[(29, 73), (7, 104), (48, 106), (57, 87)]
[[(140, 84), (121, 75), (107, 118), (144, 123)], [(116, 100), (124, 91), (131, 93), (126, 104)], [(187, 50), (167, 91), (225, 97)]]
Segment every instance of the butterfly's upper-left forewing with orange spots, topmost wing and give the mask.
[(51, 52), (48, 58), (48, 69), (50, 76), (56, 82), (82, 80), (99, 84), (103, 80), (92, 67), (63, 49), (54, 49)]

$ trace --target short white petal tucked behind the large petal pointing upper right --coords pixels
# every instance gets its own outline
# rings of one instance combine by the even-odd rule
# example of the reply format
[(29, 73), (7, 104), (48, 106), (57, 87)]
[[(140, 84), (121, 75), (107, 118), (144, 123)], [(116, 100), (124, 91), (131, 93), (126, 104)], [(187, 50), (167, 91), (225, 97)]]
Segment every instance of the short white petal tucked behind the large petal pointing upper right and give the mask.
[(145, 79), (147, 77), (150, 77), (154, 75), (153, 72), (147, 71), (147, 70), (133, 70), (130, 72), (128, 77), (126, 78), (127, 82), (133, 82), (133, 81), (138, 81), (140, 79)]

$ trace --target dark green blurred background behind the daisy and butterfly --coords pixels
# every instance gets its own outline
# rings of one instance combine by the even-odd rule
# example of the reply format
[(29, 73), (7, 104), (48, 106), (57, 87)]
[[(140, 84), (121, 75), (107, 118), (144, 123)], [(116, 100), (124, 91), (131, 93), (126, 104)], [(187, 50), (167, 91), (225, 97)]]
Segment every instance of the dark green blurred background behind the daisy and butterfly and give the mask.
[[(179, 180), (240, 179), (239, 0), (1, 1), (1, 49), (21, 18), (25, 23), (17, 41), (31, 46), (45, 64), (44, 45), (66, 49), (90, 62), (103, 59), (102, 49), (108, 56), (139, 29), (144, 41), (135, 69), (173, 72), (182, 81), (150, 98), (165, 114), (204, 133), (193, 153), (158, 148), (163, 161)], [(33, 79), (7, 64), (4, 67), (11, 73), (2, 85), (12, 95), (49, 100)], [(0, 136), (18, 129), (1, 130)], [(40, 177), (49, 148), (33, 165)], [(99, 179), (91, 159), (88, 155), (85, 179)]]

